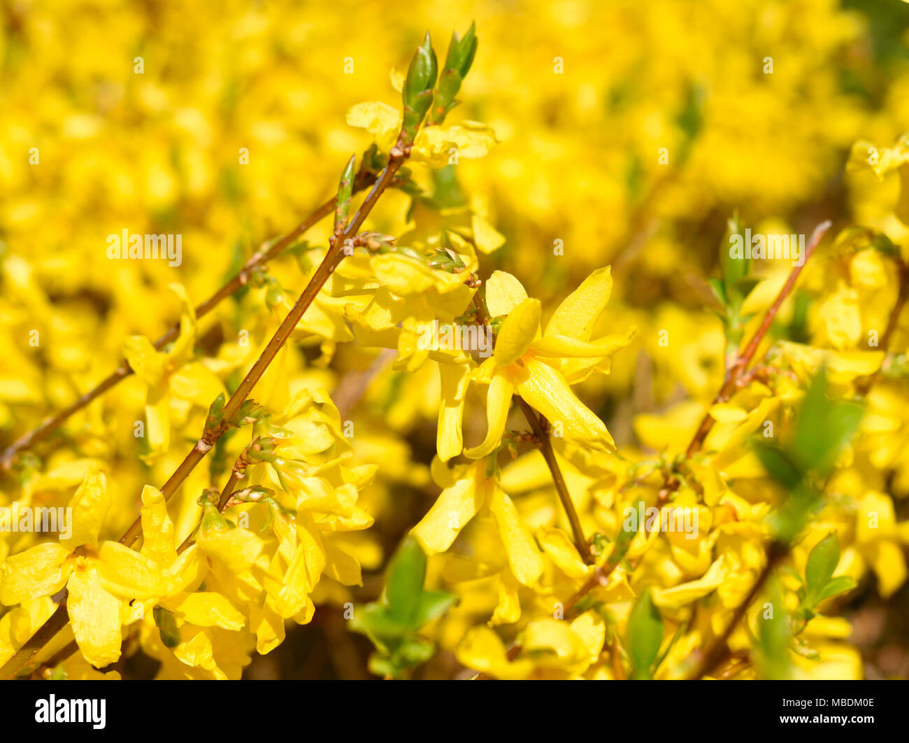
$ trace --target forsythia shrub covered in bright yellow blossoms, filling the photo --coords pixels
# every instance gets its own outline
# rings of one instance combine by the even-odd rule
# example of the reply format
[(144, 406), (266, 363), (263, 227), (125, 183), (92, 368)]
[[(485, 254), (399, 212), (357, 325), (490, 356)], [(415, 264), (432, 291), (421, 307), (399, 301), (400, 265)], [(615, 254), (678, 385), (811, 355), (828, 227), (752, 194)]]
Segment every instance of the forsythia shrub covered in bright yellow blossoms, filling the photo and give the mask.
[[(0, 49), (0, 677), (240, 678), (320, 617), (368, 654), (338, 676), (866, 675), (847, 617), (907, 577), (909, 78), (841, 85), (863, 16), (708, 3), (729, 52), (680, 43), (707, 11), (565, 4), (496, 67), (490, 12), (396, 105), (363, 35), (343, 129), (286, 57), (344, 13), (101, 39), (76, 5)], [(589, 25), (635, 36), (603, 65)], [(815, 208), (842, 177), (853, 215)]]

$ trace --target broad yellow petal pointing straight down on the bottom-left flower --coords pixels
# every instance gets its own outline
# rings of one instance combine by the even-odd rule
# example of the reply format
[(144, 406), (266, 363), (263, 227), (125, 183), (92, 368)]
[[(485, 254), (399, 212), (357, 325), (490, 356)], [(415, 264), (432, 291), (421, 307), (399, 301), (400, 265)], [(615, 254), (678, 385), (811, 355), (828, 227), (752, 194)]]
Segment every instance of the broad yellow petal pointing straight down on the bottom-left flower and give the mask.
[(66, 610), (82, 655), (95, 668), (120, 658), (120, 602), (101, 585), (90, 561), (79, 564), (66, 583)]

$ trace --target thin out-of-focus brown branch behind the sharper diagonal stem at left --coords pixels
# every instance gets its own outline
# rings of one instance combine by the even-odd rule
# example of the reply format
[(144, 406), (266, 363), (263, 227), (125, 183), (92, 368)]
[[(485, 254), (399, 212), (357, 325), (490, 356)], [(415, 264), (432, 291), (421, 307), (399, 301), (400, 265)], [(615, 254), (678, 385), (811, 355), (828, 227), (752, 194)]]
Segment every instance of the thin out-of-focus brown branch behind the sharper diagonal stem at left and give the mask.
[[(354, 192), (362, 191), (367, 186), (370, 186), (375, 182), (375, 175), (361, 169), (354, 181)], [(330, 215), (335, 209), (335, 198), (331, 198), (325, 202), (322, 206), (319, 206), (318, 209), (313, 212), (310, 216), (307, 216), (299, 225), (295, 226), (293, 230), (287, 233), (285, 236), (281, 237), (271, 246), (263, 248), (255, 253), (254, 256), (250, 257), (246, 261), (245, 266), (234, 276), (230, 281), (228, 281), (224, 286), (218, 289), (215, 294), (209, 296), (204, 302), (195, 307), (195, 316), (202, 317), (207, 315), (216, 306), (218, 306), (225, 298), (231, 296), (237, 291), (241, 286), (244, 286), (248, 281), (250, 274), (257, 266), (262, 266), (268, 261), (275, 258), (275, 256), (280, 255), (286, 247), (293, 245), (296, 239), (302, 236), (307, 232), (311, 227), (315, 226), (316, 223), (321, 221), (325, 216)], [(153, 344), (155, 348), (160, 350), (172, 340), (180, 332), (180, 324), (175, 323), (171, 326), (170, 329), (161, 337), (159, 337)], [(129, 364), (124, 360), (121, 360), (120, 366), (117, 366), (116, 370), (110, 374), (108, 377), (105, 377), (104, 380), (99, 382), (93, 389), (85, 393), (85, 395), (79, 397), (75, 400), (74, 403), (65, 407), (63, 410), (55, 413), (55, 415), (48, 417), (44, 422), (41, 423), (35, 429), (29, 431), (25, 436), (19, 437), (12, 444), (5, 448), (3, 454), (0, 454), (0, 467), (4, 469), (9, 469), (15, 456), (31, 447), (37, 441), (40, 441), (46, 438), (48, 435), (53, 433), (56, 428), (60, 427), (67, 418), (73, 416), (82, 408), (88, 406), (98, 397), (101, 397), (109, 389), (112, 389), (121, 380), (129, 377), (133, 374), (133, 369), (130, 368)]]

